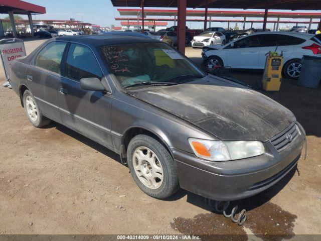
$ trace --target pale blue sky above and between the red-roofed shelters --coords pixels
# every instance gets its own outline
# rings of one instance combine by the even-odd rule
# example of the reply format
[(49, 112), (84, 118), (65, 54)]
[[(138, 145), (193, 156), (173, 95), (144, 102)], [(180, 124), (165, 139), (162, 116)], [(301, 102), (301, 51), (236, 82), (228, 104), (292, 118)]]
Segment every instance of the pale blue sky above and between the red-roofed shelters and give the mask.
[[(33, 19), (43, 19), (43, 20), (69, 20), (70, 18), (91, 23), (97, 24), (101, 27), (110, 27), (110, 25), (120, 26), (119, 21), (115, 21), (115, 17), (124, 17), (120, 16), (117, 8), (114, 8), (111, 4), (110, 0), (24, 0), (26, 2), (40, 5), (46, 8), (47, 14), (44, 15), (34, 15)], [(148, 8), (145, 8), (148, 9)], [(157, 8), (152, 8), (157, 9)], [(211, 9), (215, 10), (215, 9)], [(282, 11), (286, 12), (286, 11)], [(299, 12), (319, 12), (321, 16), (321, 11), (299, 11)], [(0, 15), (1, 18), (4, 18), (4, 15)], [(23, 16), (26, 18), (25, 16)], [(133, 16), (131, 16), (133, 17)], [(147, 16), (148, 17), (148, 16)], [(154, 16), (149, 16), (149, 18), (153, 18)], [(159, 18), (167, 18), (167, 17), (159, 17)], [(170, 18), (170, 17), (169, 17)], [(193, 17), (190, 17), (193, 18)], [(235, 18), (242, 19), (242, 18)], [(247, 20), (250, 20), (248, 18)], [(254, 18), (257, 19), (257, 18)], [(276, 20), (269, 18), (269, 20)], [(306, 20), (309, 21), (309, 20)], [(315, 21), (317, 21), (315, 19)], [(168, 22), (168, 27), (174, 25), (174, 22)], [(234, 27), (234, 23), (230, 25), (230, 27)], [(254, 28), (262, 28), (263, 24), (254, 23)], [(285, 26), (286, 24), (280, 24), (280, 27)], [(197, 22), (188, 22), (187, 26), (189, 28), (199, 29), (203, 28), (203, 23)], [(227, 23), (212, 23), (212, 27), (227, 27)], [(242, 23), (238, 23), (240, 28), (243, 28)], [(290, 27), (292, 27), (290, 25)], [(308, 26), (308, 24), (306, 24)], [(246, 28), (250, 28), (251, 24), (247, 23)], [(273, 24), (267, 24), (267, 28), (273, 29)], [(312, 29), (316, 29), (317, 25), (312, 25)]]

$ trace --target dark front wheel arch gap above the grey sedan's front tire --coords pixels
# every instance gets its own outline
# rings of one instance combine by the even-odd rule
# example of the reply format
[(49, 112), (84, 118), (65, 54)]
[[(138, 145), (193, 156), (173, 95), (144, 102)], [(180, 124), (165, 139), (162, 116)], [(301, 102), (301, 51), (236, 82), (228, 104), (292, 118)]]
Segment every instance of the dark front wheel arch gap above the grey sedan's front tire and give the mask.
[(122, 153), (121, 155), (123, 155), (123, 154), (126, 155), (130, 140), (133, 139), (137, 135), (146, 135), (146, 136), (154, 138), (159, 143), (161, 143), (168, 150), (168, 152), (171, 153), (171, 155), (173, 157), (173, 154), (172, 154), (170, 148), (166, 145), (166, 143), (161, 138), (159, 138), (157, 135), (155, 135), (154, 133), (152, 133), (146, 129), (138, 128), (138, 127), (131, 128), (131, 129), (127, 130), (125, 132), (125, 134), (123, 135), (122, 145), (124, 145), (124, 150), (122, 150), (122, 152), (125, 152), (125, 153)]

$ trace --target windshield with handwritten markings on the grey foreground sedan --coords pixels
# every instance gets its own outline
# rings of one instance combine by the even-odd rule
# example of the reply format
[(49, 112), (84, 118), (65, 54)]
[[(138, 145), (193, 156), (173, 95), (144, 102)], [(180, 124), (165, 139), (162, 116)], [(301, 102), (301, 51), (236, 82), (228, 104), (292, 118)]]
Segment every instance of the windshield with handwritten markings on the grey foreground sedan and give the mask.
[(101, 50), (123, 88), (143, 82), (179, 84), (205, 76), (184, 55), (165, 43), (103, 46)]

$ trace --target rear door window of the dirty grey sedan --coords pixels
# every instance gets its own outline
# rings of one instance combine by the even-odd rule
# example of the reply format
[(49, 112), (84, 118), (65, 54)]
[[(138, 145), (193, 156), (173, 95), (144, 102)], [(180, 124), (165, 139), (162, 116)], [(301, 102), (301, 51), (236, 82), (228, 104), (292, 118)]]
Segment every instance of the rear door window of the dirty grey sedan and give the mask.
[(67, 43), (53, 42), (43, 48), (36, 57), (35, 66), (60, 74), (60, 64)]

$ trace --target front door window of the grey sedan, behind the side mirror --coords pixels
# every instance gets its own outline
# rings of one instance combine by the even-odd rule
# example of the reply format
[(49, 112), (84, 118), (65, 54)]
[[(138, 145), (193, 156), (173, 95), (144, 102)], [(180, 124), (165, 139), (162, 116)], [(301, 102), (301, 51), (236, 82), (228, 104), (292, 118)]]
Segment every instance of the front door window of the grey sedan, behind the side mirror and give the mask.
[(80, 81), (82, 78), (101, 79), (103, 74), (95, 55), (86, 46), (71, 44), (66, 61), (65, 76)]

